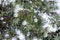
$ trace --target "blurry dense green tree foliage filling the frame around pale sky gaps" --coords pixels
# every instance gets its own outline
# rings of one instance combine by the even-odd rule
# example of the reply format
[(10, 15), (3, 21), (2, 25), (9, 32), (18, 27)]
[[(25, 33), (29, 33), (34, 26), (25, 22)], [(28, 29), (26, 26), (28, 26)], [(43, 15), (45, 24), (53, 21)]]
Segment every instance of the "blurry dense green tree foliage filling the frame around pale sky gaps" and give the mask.
[[(19, 29), (26, 40), (32, 40), (37, 37), (42, 40), (60, 40), (59, 30), (49, 32), (47, 27), (44, 29), (45, 20), (43, 14), (47, 14), (50, 18), (50, 25), (57, 29), (60, 27), (60, 16), (55, 12), (58, 9), (56, 2), (50, 0), (16, 0), (9, 2), (8, 0), (1, 1), (0, 4), (0, 40), (12, 40), (12, 37), (17, 38), (15, 32)], [(7, 2), (7, 4), (6, 4)], [(16, 6), (19, 5), (18, 11)], [(29, 35), (27, 35), (30, 33)], [(5, 36), (8, 34), (9, 36)], [(44, 36), (48, 34), (48, 36)], [(19, 38), (17, 38), (19, 40)]]

